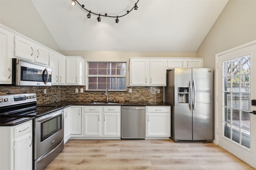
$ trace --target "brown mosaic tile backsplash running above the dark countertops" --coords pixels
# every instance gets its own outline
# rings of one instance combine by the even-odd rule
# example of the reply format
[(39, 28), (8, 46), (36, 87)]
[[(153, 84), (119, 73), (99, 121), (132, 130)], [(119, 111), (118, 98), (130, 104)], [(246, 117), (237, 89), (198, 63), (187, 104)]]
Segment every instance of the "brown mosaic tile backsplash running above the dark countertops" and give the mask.
[[(78, 93), (75, 89), (78, 88)], [(80, 88), (84, 92), (80, 92)], [(132, 88), (132, 93), (129, 93)], [(44, 94), (46, 89), (46, 94)], [(163, 102), (163, 87), (132, 86), (125, 92), (108, 92), (108, 101), (113, 102)], [(157, 93), (160, 89), (160, 93)], [(105, 92), (86, 91), (86, 86), (0, 86), (0, 96), (11, 94), (36, 93), (37, 105), (52, 104), (54, 102), (93, 102), (106, 101)]]

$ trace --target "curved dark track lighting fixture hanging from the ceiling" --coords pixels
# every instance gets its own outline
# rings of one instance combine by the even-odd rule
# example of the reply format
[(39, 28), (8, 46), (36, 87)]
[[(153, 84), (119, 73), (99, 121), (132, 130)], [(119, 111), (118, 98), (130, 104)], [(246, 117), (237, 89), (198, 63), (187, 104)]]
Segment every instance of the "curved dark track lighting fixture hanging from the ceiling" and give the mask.
[(127, 11), (126, 14), (124, 14), (124, 15), (122, 15), (122, 16), (108, 16), (108, 14), (101, 15), (101, 14), (96, 14), (96, 13), (94, 13), (94, 12), (91, 12), (90, 10), (87, 10), (86, 8), (84, 8), (84, 5), (83, 5), (83, 4), (81, 5), (77, 0), (71, 0), (71, 1), (72, 1), (71, 4), (72, 4), (73, 6), (75, 6), (75, 5), (76, 5), (76, 2), (77, 2), (84, 10), (86, 10), (87, 12), (89, 12), (89, 13), (86, 15), (87, 18), (91, 18), (91, 14), (94, 14), (94, 15), (97, 15), (97, 16), (98, 16), (98, 18), (97, 18), (98, 22), (101, 21), (100, 16), (105, 16), (105, 17), (116, 18), (116, 20), (115, 20), (116, 23), (119, 22), (119, 19), (118, 19), (118, 18), (123, 17), (123, 16), (126, 16), (126, 15), (129, 14), (129, 12), (131, 12), (133, 9), (134, 9), (134, 10), (138, 10), (137, 3), (139, 2), (139, 0), (138, 0), (138, 1), (135, 3), (134, 7), (133, 7), (130, 11)]

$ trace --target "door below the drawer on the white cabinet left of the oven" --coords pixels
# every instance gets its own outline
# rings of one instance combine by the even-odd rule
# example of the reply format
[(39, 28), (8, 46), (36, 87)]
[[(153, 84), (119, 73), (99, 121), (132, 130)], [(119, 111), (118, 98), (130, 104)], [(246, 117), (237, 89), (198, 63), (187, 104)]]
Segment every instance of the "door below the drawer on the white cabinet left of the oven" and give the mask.
[(32, 170), (32, 132), (14, 140), (14, 170)]

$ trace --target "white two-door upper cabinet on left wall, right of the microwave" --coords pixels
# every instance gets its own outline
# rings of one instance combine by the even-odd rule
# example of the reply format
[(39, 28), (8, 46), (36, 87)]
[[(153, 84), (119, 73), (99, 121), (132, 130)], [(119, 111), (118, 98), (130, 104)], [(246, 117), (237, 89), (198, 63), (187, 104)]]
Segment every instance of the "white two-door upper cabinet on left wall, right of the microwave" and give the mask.
[(50, 52), (50, 66), (52, 67), (52, 85), (66, 84), (66, 57)]

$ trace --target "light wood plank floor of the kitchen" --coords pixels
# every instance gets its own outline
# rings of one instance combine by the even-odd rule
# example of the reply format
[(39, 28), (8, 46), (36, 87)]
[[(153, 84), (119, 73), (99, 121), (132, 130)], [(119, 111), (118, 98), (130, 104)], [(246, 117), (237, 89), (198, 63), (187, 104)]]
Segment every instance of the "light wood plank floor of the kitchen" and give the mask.
[(214, 143), (69, 140), (45, 170), (254, 170)]

